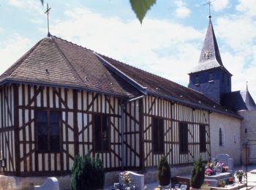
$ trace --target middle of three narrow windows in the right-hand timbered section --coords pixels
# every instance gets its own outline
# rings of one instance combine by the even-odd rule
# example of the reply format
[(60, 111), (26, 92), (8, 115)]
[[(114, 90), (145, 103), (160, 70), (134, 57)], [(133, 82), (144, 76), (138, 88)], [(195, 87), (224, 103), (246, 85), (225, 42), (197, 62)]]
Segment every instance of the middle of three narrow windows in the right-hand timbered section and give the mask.
[(179, 123), (178, 134), (180, 153), (187, 153), (189, 151), (187, 123)]

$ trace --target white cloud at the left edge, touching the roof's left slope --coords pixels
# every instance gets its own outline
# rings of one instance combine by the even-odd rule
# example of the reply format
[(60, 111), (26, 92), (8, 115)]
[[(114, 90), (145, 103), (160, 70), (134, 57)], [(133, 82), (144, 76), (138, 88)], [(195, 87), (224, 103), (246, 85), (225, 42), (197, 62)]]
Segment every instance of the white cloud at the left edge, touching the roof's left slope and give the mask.
[(32, 45), (29, 39), (20, 37), (18, 34), (12, 34), (6, 40), (0, 42), (0, 73), (14, 64)]

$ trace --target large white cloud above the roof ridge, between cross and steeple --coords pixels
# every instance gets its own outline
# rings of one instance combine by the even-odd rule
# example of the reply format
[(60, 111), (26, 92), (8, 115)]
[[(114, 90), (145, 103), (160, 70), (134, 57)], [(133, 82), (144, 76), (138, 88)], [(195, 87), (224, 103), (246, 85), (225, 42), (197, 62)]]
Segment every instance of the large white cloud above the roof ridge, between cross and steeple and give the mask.
[(202, 32), (167, 20), (146, 18), (143, 26), (138, 20), (123, 23), (86, 8), (66, 15), (68, 19), (54, 24), (53, 34), (187, 86), (185, 77), (197, 64)]

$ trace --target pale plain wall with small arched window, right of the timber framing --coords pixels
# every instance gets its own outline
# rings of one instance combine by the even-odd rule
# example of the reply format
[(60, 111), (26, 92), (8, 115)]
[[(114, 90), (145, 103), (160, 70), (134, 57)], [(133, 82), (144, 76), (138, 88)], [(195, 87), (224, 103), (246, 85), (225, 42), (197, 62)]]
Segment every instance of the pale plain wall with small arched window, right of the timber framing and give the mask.
[[(222, 129), (222, 142), (219, 145), (219, 128)], [(210, 114), (211, 158), (227, 153), (234, 165), (241, 164), (241, 120), (219, 113)]]

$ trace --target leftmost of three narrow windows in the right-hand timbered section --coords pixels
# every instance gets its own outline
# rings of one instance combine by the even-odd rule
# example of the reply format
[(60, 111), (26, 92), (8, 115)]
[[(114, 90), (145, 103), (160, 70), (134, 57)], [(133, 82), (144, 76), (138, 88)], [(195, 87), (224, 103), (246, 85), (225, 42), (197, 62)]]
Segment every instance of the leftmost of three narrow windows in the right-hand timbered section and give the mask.
[(152, 119), (153, 153), (165, 153), (164, 121), (161, 118)]

